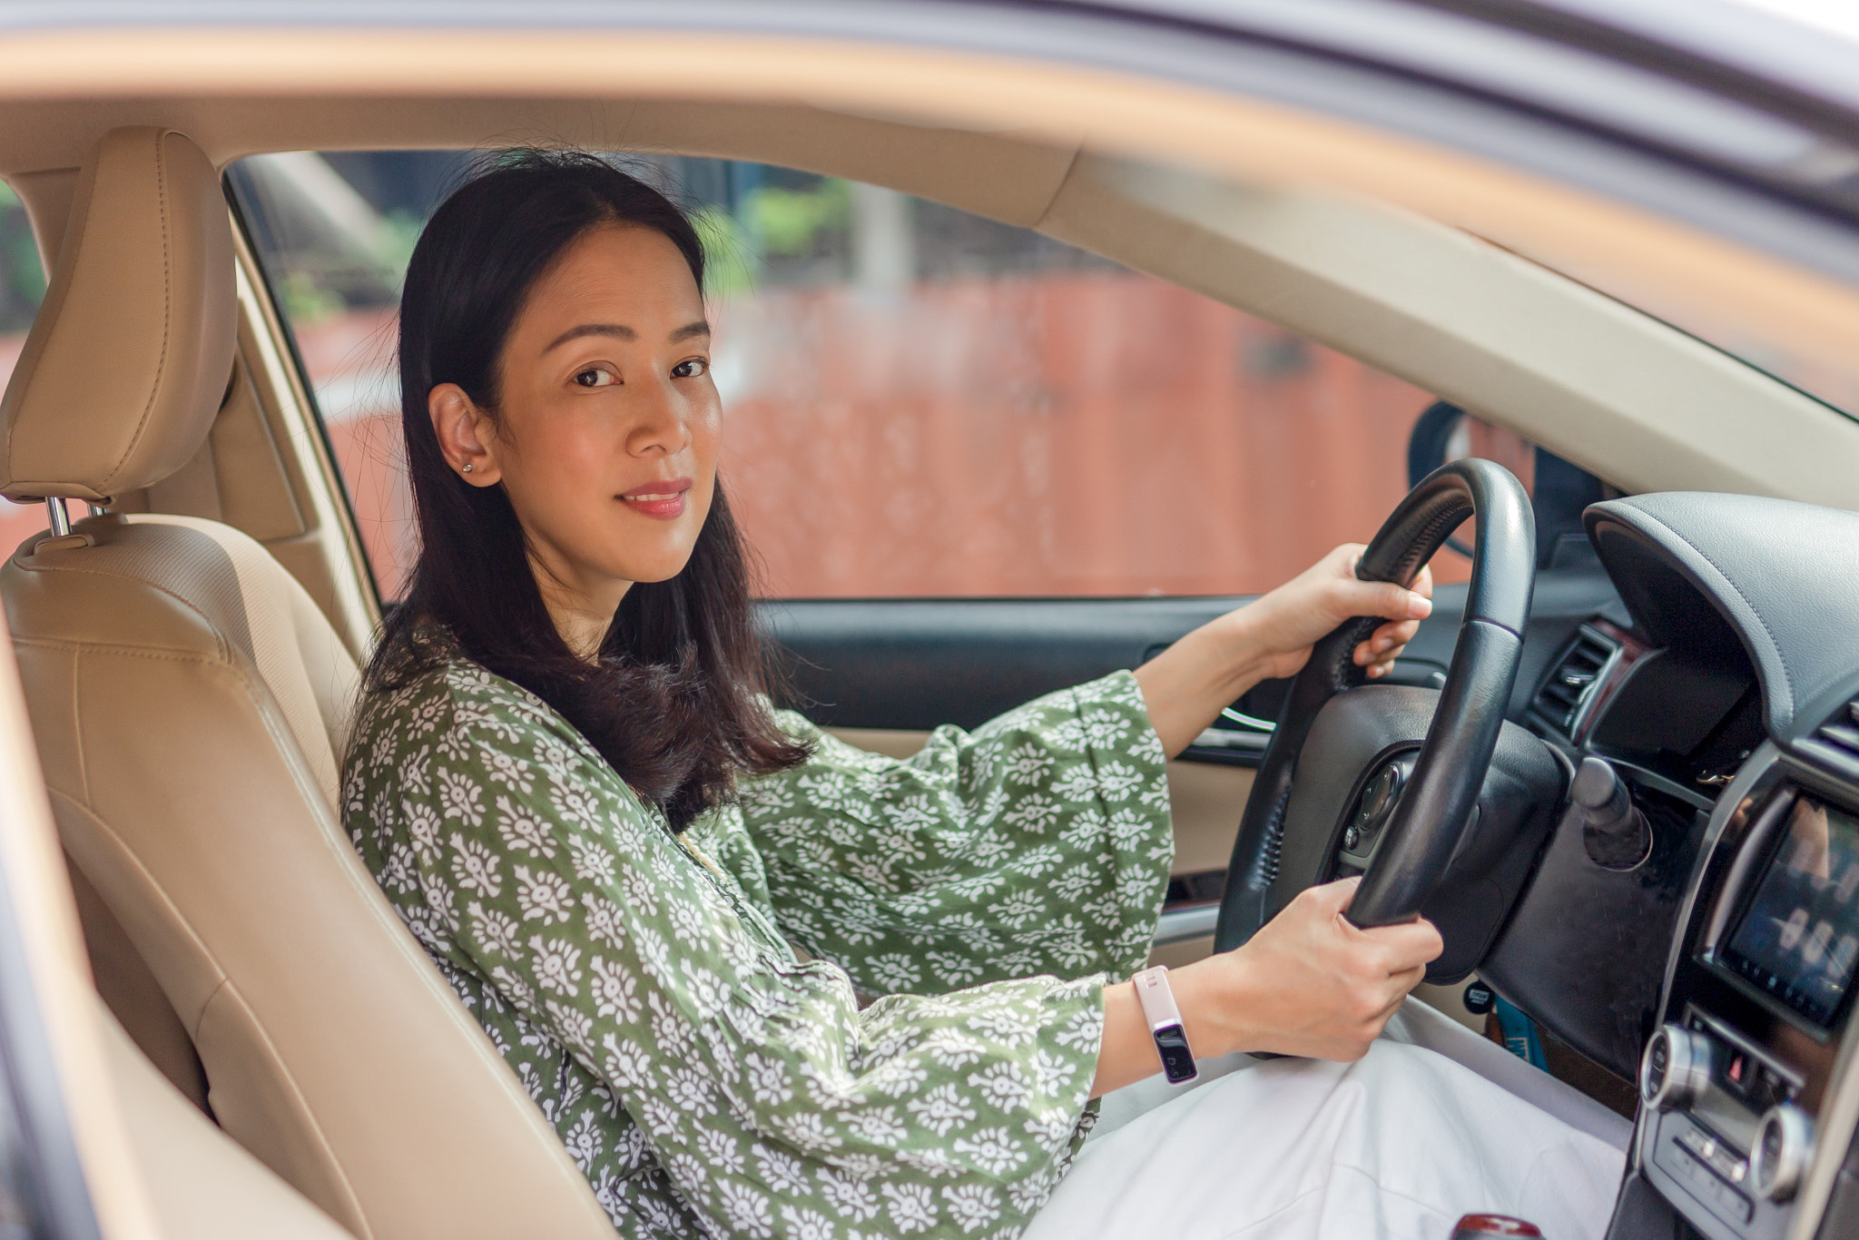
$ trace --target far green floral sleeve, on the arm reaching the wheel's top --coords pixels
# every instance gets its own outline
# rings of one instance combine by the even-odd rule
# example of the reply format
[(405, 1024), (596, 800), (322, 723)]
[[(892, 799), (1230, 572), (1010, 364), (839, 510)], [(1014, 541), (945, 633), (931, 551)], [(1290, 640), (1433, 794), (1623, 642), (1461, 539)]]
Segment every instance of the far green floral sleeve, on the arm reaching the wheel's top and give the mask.
[(744, 820), (783, 933), (868, 995), (1052, 972), (1128, 976), (1173, 861), (1162, 742), (1127, 671), (896, 760), (814, 744)]

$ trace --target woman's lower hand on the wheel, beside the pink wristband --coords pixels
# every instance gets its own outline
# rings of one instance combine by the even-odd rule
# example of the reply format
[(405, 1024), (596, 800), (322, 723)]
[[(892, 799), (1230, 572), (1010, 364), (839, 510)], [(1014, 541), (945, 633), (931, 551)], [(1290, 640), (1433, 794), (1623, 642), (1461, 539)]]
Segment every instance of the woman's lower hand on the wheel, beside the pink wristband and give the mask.
[(1195, 1004), (1195, 1015), (1214, 1026), (1208, 1041), (1314, 1060), (1368, 1054), (1444, 941), (1428, 920), (1351, 926), (1342, 913), (1357, 883), (1299, 892), (1244, 946), (1192, 967), (1208, 972), (1208, 991)]

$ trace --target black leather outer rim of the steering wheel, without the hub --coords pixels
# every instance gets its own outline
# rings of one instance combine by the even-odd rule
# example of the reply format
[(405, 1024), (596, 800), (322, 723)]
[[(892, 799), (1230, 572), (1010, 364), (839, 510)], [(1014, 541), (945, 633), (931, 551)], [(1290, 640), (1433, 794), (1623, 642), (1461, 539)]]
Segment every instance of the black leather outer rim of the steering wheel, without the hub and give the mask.
[[(1418, 915), (1444, 877), (1478, 803), (1517, 680), (1536, 587), (1530, 496), (1493, 461), (1467, 457), (1441, 465), (1394, 508), (1355, 567), (1365, 582), (1411, 586), (1467, 517), (1478, 517), (1478, 534), (1459, 640), (1413, 777), (1350, 904), (1350, 920), (1357, 926), (1387, 926)], [(1324, 703), (1366, 680), (1353, 651), (1383, 623), (1363, 615), (1344, 621), (1312, 647), (1292, 680), (1233, 842), (1216, 952), (1240, 946), (1270, 917), (1298, 755)]]

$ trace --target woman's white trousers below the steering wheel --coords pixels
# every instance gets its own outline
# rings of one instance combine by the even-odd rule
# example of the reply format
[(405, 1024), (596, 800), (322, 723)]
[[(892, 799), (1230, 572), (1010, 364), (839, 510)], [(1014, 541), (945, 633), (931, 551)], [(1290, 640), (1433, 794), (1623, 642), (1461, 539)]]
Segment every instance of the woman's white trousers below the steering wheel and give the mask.
[(1621, 1151), (1433, 1050), (1229, 1067), (1093, 1134), (1024, 1240), (1446, 1240), (1476, 1212), (1606, 1233)]

